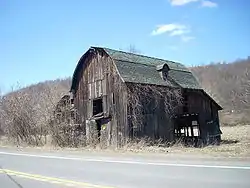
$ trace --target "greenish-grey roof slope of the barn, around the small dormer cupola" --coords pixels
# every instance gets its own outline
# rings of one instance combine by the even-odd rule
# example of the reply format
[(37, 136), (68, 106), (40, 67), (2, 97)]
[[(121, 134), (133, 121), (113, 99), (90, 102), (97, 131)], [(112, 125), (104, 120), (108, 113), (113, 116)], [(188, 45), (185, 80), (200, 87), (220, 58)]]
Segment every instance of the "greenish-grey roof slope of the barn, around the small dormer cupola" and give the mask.
[[(180, 63), (109, 48), (103, 49), (115, 61), (125, 82), (201, 89), (199, 82), (190, 70)], [(157, 71), (157, 66), (164, 64), (167, 64), (170, 69), (167, 81), (164, 81)]]

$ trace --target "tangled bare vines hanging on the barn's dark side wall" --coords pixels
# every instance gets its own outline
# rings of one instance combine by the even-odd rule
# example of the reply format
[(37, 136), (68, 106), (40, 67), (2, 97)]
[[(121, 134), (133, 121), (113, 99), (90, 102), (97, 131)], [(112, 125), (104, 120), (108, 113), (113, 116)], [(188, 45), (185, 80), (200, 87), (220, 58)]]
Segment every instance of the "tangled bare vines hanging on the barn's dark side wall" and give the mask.
[[(152, 104), (151, 111), (164, 105), (164, 112), (172, 118), (182, 105), (180, 88), (160, 87), (148, 84), (127, 84), (128, 119), (133, 127), (142, 130), (145, 107)], [(162, 103), (162, 104), (160, 104)]]

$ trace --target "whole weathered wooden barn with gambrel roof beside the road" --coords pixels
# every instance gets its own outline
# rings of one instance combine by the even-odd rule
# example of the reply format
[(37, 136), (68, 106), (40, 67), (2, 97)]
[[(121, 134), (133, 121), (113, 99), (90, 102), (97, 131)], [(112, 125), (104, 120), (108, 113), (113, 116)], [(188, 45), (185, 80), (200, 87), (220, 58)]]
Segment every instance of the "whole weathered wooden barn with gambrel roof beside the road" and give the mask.
[(184, 65), (91, 47), (80, 58), (71, 93), (87, 138), (120, 145), (129, 139), (220, 141), (222, 109)]

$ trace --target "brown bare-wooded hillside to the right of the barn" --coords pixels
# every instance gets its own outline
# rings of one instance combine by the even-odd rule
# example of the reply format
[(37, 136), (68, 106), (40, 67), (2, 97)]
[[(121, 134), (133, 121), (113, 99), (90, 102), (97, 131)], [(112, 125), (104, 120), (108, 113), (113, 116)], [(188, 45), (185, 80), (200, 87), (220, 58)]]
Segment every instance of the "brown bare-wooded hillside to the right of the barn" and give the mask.
[(224, 124), (249, 123), (250, 57), (232, 63), (211, 63), (191, 70), (203, 88), (223, 107)]

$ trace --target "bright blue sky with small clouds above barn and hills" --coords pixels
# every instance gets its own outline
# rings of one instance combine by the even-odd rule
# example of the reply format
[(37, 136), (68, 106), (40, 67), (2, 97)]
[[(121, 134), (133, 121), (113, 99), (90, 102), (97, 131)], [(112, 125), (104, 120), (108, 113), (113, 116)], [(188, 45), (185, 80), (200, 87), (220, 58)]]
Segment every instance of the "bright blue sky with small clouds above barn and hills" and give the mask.
[(187, 66), (250, 55), (249, 0), (0, 1), (0, 88), (71, 76), (90, 46)]

